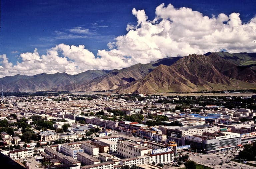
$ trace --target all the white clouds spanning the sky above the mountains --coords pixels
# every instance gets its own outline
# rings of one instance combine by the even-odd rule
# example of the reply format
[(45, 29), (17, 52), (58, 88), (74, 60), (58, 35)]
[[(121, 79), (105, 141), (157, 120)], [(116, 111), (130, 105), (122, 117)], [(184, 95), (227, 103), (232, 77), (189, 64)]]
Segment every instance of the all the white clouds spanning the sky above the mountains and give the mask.
[[(6, 55), (0, 55), (0, 76), (67, 72), (77, 74), (88, 69), (120, 69), (136, 63), (148, 63), (168, 56), (187, 56), (192, 53), (225, 50), (230, 53), (256, 52), (256, 17), (242, 23), (239, 13), (204, 16), (190, 8), (175, 8), (172, 4), (159, 5), (156, 17), (150, 21), (144, 10), (132, 10), (137, 25), (128, 24), (126, 35), (107, 44), (109, 49), (98, 50), (97, 55), (83, 45), (59, 44), (39, 55), (37, 49), (20, 54), (15, 65)], [(96, 25), (97, 26), (97, 25)], [(87, 35), (90, 30), (75, 27), (72, 33)], [(86, 36), (55, 32), (59, 39), (86, 38)]]

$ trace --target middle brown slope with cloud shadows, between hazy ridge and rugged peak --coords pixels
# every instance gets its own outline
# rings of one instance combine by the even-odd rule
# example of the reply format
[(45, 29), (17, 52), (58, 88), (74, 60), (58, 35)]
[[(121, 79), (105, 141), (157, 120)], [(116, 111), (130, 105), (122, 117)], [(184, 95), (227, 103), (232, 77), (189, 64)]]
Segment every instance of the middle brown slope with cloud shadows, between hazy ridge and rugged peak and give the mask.
[(136, 64), (128, 68), (123, 68), (121, 70), (115, 69), (104, 76), (93, 79), (90, 82), (81, 81), (75, 84), (64, 86), (61, 89), (58, 88), (57, 90), (86, 92), (114, 90), (132, 81), (142, 79), (160, 64), (165, 64), (169, 66), (176, 62), (178, 59), (180, 59), (180, 57), (165, 58), (147, 64)]

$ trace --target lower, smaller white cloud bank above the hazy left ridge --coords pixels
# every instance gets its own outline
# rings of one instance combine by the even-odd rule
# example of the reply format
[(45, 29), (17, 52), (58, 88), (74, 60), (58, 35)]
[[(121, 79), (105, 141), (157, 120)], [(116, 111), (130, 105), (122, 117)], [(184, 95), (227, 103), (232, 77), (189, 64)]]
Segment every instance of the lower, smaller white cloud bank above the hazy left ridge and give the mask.
[[(40, 55), (35, 48), (34, 52), (20, 54), (21, 62), (13, 65), (6, 55), (0, 55), (0, 77), (7, 75), (35, 75), (39, 73), (53, 74), (66, 72), (77, 74), (89, 69), (121, 69), (129, 66), (127, 59), (121, 55), (110, 56), (105, 50), (99, 51), (101, 57), (95, 57), (84, 45), (69, 46), (59, 44), (49, 49), (46, 55)], [(118, 52), (116, 52), (118, 53)]]

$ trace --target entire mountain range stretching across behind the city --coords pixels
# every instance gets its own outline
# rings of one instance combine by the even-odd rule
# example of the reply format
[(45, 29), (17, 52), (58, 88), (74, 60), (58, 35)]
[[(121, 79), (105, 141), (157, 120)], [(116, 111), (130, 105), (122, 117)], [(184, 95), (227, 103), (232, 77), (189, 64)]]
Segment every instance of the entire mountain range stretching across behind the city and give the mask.
[(195, 92), (256, 88), (256, 53), (208, 52), (171, 57), (121, 70), (6, 76), (5, 92), (103, 91), (116, 93)]

